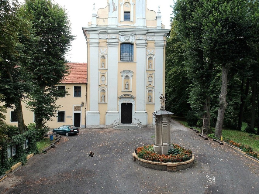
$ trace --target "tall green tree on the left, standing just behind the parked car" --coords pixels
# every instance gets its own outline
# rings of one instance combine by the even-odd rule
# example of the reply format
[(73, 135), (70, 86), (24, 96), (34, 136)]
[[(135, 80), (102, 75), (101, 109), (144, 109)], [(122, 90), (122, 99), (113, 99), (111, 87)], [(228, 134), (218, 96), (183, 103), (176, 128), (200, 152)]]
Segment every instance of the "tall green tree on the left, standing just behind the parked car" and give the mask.
[(31, 74), (33, 87), (27, 105), (35, 114), (36, 128), (41, 129), (43, 120), (55, 116), (59, 106), (57, 98), (66, 91), (57, 90), (67, 75), (65, 54), (70, 49), (71, 26), (66, 10), (50, 0), (26, 0), (22, 6), (23, 17), (29, 19), (35, 29), (36, 42), (30, 63), (25, 68)]

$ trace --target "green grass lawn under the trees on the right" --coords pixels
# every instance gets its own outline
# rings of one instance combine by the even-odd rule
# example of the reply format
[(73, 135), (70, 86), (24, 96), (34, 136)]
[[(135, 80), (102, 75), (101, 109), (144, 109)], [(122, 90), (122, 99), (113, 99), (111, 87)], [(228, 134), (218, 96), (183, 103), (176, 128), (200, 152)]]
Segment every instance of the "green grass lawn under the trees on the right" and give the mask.
[[(185, 121), (184, 117), (172, 117), (174, 120), (178, 121), (180, 124), (184, 125), (185, 127), (188, 126), (187, 122)], [(249, 145), (253, 148), (253, 151), (259, 152), (259, 135), (253, 134), (252, 137), (250, 137), (249, 133), (244, 132), (244, 129), (247, 127), (247, 123), (242, 123), (242, 131), (236, 131), (229, 128), (223, 128), (222, 129), (222, 136), (223, 138), (229, 138), (232, 141), (235, 141), (236, 143), (241, 143), (243, 145)], [(199, 130), (201, 132), (200, 128), (195, 128), (196, 130)], [(212, 128), (212, 131), (215, 131), (215, 128)]]

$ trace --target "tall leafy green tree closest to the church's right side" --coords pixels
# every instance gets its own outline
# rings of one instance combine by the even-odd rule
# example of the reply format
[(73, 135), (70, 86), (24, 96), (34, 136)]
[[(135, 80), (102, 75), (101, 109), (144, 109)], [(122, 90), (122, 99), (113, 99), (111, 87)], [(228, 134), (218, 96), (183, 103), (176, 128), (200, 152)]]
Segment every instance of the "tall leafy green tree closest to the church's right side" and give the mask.
[[(210, 128), (210, 82), (212, 80), (213, 63), (206, 58), (202, 43), (202, 18), (206, 12), (199, 9), (203, 1), (178, 0), (174, 4), (175, 31), (181, 39), (184, 67), (189, 82), (189, 98), (192, 109), (197, 115), (205, 115), (206, 133)], [(181, 52), (181, 51), (180, 51)]]

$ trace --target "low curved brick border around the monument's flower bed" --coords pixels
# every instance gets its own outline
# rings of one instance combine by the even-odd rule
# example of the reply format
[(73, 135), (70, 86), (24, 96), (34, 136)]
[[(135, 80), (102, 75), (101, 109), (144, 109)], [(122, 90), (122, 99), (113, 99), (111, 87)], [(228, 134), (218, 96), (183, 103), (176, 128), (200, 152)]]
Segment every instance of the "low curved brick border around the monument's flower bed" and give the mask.
[(194, 155), (192, 154), (192, 158), (185, 162), (152, 162), (148, 160), (144, 160), (141, 158), (138, 158), (135, 151), (132, 153), (134, 162), (137, 162), (139, 165), (151, 168), (155, 170), (163, 170), (163, 171), (179, 171), (179, 170), (185, 170), (187, 168), (190, 168), (194, 163)]

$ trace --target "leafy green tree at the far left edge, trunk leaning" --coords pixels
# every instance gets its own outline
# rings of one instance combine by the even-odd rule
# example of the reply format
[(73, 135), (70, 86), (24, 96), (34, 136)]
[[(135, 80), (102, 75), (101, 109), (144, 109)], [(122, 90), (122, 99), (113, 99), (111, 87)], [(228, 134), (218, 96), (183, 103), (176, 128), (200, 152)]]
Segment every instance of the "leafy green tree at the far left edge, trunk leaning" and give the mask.
[(21, 100), (28, 87), (28, 78), (22, 69), (33, 48), (33, 30), (28, 20), (19, 16), (15, 0), (0, 3), (0, 90), (5, 95), (5, 105), (14, 108), (19, 132), (26, 131)]

